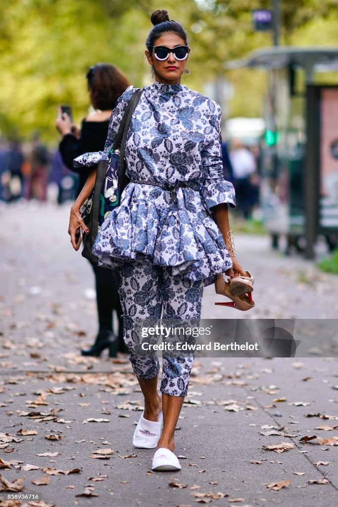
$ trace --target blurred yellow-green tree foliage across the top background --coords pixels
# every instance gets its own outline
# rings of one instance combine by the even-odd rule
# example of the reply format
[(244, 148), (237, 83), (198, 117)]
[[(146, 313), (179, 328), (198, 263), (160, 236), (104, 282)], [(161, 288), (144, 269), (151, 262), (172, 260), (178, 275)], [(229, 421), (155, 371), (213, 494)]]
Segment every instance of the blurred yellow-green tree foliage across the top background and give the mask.
[[(250, 13), (270, 6), (270, 0), (164, 0), (161, 6), (158, 0), (2, 0), (0, 131), (27, 136), (39, 129), (55, 142), (57, 106), (70, 103), (80, 122), (89, 105), (85, 74), (99, 61), (119, 66), (136, 86), (149, 84), (144, 41), (159, 7), (189, 34), (191, 75), (184, 82), (203, 92), (206, 81), (227, 77), (236, 89), (231, 113), (259, 115), (264, 73), (226, 72), (224, 62), (271, 44), (271, 33), (253, 31)], [(281, 7), (282, 42), (338, 44), (336, 0)]]

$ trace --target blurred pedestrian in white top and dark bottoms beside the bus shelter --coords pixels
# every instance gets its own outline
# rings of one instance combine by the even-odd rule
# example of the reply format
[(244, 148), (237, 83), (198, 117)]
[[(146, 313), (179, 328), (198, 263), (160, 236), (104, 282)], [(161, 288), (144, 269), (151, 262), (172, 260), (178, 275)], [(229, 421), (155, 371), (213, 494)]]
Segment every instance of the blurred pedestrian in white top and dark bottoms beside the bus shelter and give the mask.
[(252, 209), (252, 193), (250, 177), (256, 170), (255, 158), (241, 139), (231, 141), (230, 161), (233, 167), (233, 184), (236, 192), (237, 206), (248, 219)]

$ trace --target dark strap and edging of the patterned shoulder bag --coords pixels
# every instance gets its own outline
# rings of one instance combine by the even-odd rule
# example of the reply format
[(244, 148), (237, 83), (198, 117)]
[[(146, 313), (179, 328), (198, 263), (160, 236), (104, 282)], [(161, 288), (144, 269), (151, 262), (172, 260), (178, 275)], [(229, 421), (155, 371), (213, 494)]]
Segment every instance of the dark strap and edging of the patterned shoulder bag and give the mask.
[[(120, 149), (120, 155), (119, 155), (119, 182), (120, 182), (120, 189), (121, 184), (125, 180), (125, 164), (124, 164), (124, 145), (127, 138), (128, 128), (131, 116), (135, 110), (135, 107), (142, 95), (143, 89), (142, 88), (136, 88), (133, 96), (128, 102), (128, 105), (126, 107), (126, 111), (124, 112), (124, 115), (122, 117), (120, 127), (115, 139), (114, 143), (114, 150), (117, 150), (119, 146), (121, 146)], [(121, 140), (121, 145), (120, 145)], [(94, 186), (94, 198), (93, 198), (93, 205), (92, 205), (92, 212), (91, 212), (91, 223), (90, 223), (90, 235), (91, 235), (91, 244), (94, 244), (95, 238), (97, 236), (97, 229), (98, 229), (98, 216), (99, 216), (99, 208), (100, 208), (100, 192), (101, 188), (104, 182), (104, 178), (108, 169), (109, 160), (100, 160), (97, 166), (97, 174), (95, 179), (95, 186)], [(123, 187), (124, 188), (124, 187)], [(120, 190), (121, 192), (121, 190)], [(121, 193), (120, 193), (121, 195)], [(97, 258), (90, 252), (90, 260), (97, 263)]]

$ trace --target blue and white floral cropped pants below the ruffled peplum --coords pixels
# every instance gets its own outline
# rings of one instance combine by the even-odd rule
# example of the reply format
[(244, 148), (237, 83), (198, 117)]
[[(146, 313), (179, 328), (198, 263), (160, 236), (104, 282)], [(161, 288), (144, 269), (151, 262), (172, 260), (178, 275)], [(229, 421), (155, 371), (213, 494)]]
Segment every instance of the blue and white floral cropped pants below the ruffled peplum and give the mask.
[[(120, 271), (120, 299), (123, 309), (124, 341), (138, 378), (151, 379), (159, 374), (157, 354), (139, 353), (135, 332), (138, 321), (160, 323), (162, 319), (198, 321), (201, 315), (203, 280), (172, 276), (170, 267), (148, 262), (125, 262)], [(163, 311), (163, 314), (162, 314)], [(195, 339), (191, 338), (190, 343)], [(163, 354), (161, 392), (185, 396), (189, 385), (194, 354)]]

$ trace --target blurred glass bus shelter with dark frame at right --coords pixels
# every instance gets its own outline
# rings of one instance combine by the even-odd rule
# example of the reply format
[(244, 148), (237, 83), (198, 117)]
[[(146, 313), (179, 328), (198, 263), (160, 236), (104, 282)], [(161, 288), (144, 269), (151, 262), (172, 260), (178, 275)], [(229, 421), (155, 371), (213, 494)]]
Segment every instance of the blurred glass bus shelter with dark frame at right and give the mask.
[[(267, 71), (260, 202), (278, 247), (314, 257), (319, 235), (338, 241), (338, 47), (271, 47), (226, 64)], [(322, 83), (324, 75), (328, 84)]]

